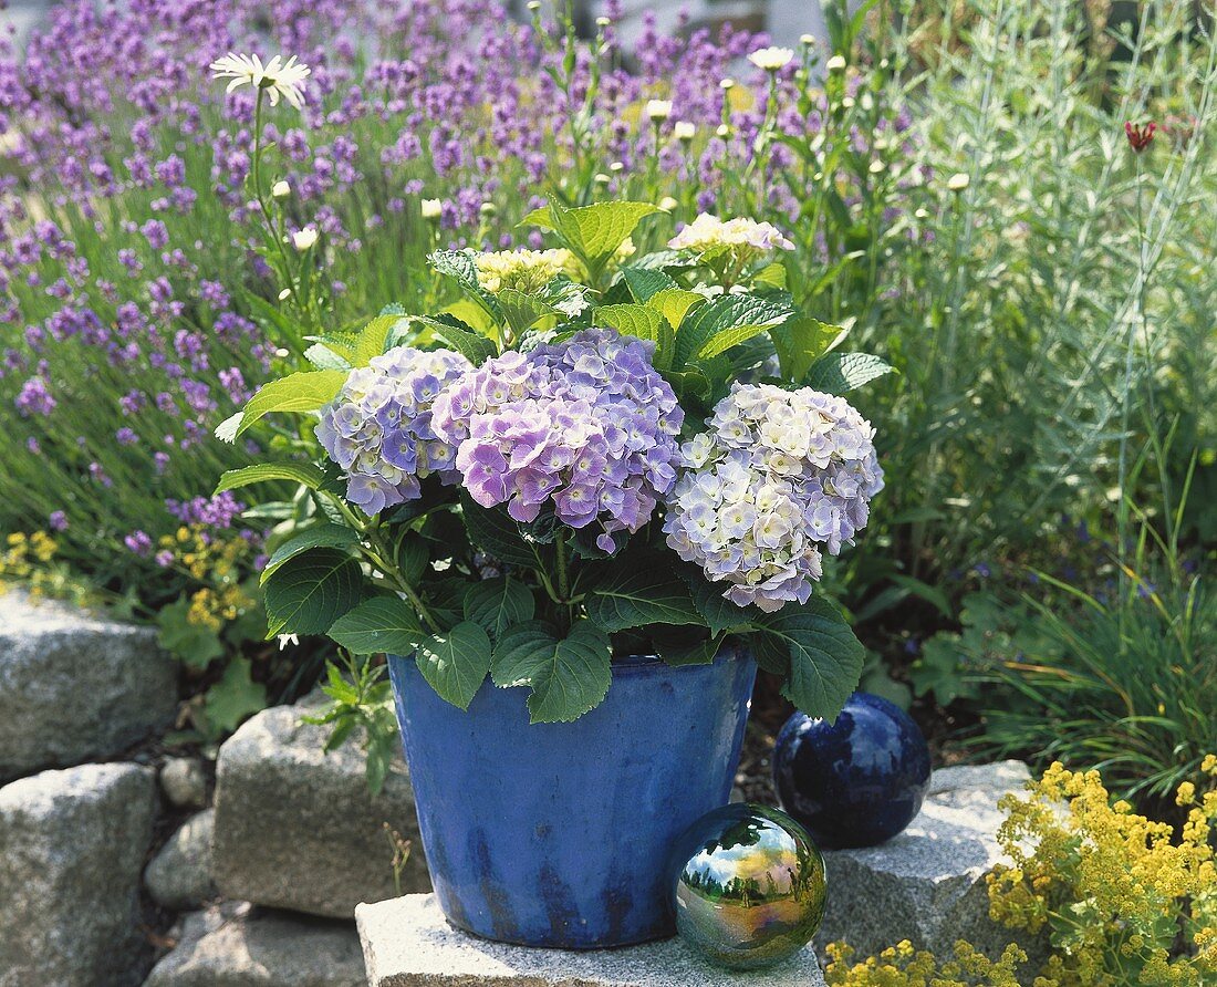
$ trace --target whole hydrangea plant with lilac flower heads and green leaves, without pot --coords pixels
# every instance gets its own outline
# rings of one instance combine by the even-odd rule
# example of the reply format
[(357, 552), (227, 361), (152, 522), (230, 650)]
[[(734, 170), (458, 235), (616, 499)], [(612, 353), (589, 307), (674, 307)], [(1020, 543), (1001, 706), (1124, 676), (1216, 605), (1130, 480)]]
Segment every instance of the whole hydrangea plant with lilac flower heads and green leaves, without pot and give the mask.
[(795, 307), (780, 230), (703, 215), (638, 256), (639, 224), (668, 221), (555, 201), (525, 220), (550, 249), (438, 251), (462, 301), (319, 337), (225, 422), (307, 416), (277, 447), (313, 462), (219, 484), (303, 488), (263, 572), (270, 635), (414, 655), (461, 708), (487, 677), (528, 688), (534, 722), (595, 707), (615, 657), (742, 639), (836, 716), (863, 647), (815, 584), (884, 476), (840, 394), (891, 368)]

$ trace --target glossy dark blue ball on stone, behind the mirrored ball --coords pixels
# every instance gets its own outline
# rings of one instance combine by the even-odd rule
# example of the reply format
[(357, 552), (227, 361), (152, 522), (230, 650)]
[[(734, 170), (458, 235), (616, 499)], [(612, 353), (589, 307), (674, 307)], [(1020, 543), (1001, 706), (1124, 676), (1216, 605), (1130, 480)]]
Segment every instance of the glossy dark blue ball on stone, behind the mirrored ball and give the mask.
[(778, 734), (781, 807), (824, 848), (892, 839), (921, 809), (930, 748), (913, 717), (870, 692), (849, 696), (835, 723), (795, 713)]

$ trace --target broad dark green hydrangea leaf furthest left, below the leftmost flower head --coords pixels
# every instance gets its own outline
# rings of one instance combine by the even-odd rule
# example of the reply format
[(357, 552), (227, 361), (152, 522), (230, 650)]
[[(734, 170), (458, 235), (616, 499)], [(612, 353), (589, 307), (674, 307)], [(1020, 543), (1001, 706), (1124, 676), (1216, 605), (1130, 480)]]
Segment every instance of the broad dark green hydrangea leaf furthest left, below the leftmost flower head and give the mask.
[(359, 563), (341, 549), (310, 549), (290, 559), (267, 581), (267, 636), (325, 634), (359, 602), (363, 581)]

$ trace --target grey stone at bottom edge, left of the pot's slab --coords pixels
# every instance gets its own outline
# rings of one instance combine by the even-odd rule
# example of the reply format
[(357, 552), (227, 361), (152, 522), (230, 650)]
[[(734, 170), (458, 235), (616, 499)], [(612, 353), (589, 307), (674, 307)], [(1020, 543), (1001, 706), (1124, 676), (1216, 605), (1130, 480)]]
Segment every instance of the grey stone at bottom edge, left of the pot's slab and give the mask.
[(363, 987), (359, 936), (332, 921), (242, 903), (192, 913), (144, 987)]

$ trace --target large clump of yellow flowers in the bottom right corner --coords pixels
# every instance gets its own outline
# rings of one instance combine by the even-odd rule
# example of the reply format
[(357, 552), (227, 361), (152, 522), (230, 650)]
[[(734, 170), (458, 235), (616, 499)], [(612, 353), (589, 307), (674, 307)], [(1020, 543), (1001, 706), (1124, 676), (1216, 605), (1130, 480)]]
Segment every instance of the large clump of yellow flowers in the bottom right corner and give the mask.
[[(1217, 776), (1217, 758), (1204, 763)], [(989, 875), (989, 914), (1010, 929), (1047, 926), (1055, 952), (1044, 969), (1060, 987), (1201, 985), (1217, 974), (1217, 869), (1208, 842), (1217, 790), (1173, 828), (1111, 802), (1098, 772), (1053, 764), (1031, 797), (1006, 796), (998, 839), (1013, 865)], [(1180, 938), (1191, 949), (1179, 954)], [(1190, 953), (1190, 954), (1189, 954)]]

